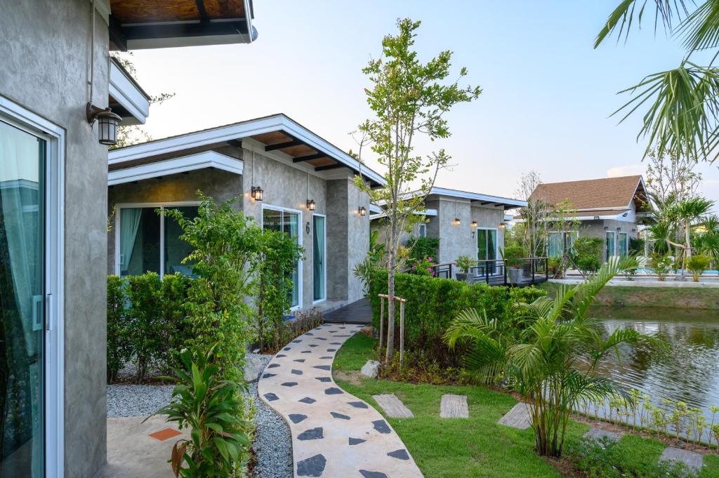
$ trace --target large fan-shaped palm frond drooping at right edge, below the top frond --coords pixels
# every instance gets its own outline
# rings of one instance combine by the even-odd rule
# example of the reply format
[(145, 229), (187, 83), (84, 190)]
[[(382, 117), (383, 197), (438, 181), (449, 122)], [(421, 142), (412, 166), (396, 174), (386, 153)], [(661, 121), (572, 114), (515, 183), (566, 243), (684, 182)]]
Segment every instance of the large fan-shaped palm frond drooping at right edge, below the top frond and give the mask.
[(657, 155), (690, 155), (707, 160), (719, 155), (719, 68), (683, 60), (674, 70), (646, 76), (620, 93), (633, 95), (612, 114), (624, 114), (620, 123), (649, 105), (637, 135), (637, 139), (648, 140), (645, 157), (652, 148)]

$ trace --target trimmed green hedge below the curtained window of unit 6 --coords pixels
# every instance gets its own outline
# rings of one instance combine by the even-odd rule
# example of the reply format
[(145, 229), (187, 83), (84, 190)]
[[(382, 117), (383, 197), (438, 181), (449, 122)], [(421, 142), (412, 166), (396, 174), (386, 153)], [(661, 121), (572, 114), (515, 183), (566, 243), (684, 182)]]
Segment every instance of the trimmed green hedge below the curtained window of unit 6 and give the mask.
[(148, 369), (167, 371), (179, 364), (180, 348), (191, 336), (184, 304), (192, 279), (155, 272), (107, 278), (107, 379), (131, 362), (135, 381)]

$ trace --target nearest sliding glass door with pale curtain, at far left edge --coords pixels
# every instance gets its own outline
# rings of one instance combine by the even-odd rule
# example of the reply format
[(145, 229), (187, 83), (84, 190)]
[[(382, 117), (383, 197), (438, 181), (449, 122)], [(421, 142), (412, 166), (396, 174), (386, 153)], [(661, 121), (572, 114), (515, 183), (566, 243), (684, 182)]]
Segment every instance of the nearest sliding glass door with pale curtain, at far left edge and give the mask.
[(0, 121), (0, 476), (45, 468), (45, 139)]

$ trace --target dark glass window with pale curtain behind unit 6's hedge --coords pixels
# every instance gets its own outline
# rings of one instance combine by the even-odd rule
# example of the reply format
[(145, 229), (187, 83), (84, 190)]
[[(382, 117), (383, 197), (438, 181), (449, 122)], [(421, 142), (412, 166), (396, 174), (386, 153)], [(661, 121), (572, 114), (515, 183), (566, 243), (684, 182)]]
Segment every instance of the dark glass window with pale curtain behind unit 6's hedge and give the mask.
[(197, 206), (120, 208), (120, 275), (145, 272), (157, 272), (160, 276), (174, 272), (192, 275), (192, 265), (182, 263), (192, 247), (180, 239), (180, 225), (158, 213), (158, 209), (168, 207), (178, 209), (189, 219), (197, 216)]

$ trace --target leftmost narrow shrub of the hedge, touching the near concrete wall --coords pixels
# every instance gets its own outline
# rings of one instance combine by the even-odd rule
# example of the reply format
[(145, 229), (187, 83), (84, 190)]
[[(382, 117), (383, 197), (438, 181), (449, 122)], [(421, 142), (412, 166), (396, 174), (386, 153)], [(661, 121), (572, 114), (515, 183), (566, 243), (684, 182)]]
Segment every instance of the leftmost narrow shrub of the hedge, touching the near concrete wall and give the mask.
[(125, 311), (124, 280), (116, 275), (107, 277), (107, 381), (115, 380), (117, 372), (129, 359), (129, 328)]

